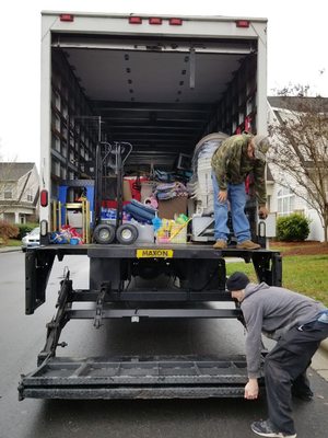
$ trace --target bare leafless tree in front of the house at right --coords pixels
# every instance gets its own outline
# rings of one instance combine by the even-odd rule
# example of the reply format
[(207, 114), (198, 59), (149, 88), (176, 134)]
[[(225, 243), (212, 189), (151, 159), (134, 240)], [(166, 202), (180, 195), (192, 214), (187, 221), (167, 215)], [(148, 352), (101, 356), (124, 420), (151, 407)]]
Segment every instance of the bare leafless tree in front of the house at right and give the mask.
[(308, 87), (281, 91), (284, 108), (269, 126), (273, 178), (314, 208), (328, 238), (328, 99), (308, 97)]

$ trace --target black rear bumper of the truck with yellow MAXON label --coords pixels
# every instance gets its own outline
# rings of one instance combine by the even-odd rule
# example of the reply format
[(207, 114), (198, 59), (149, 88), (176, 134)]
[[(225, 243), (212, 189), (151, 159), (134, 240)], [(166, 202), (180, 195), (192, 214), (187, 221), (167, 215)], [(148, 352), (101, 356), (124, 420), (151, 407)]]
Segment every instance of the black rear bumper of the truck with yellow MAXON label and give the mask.
[[(105, 283), (112, 289), (121, 288), (124, 280), (140, 276), (154, 278), (165, 273), (179, 277), (179, 298), (191, 298), (190, 292), (225, 290), (225, 258), (239, 257), (253, 262), (259, 281), (281, 286), (281, 256), (268, 250), (213, 250), (209, 245), (48, 245), (28, 250), (25, 258), (25, 313), (33, 314), (46, 300), (48, 278), (56, 257), (84, 255), (90, 260), (90, 289), (99, 290)], [(155, 275), (153, 275), (155, 274)], [(177, 292), (177, 289), (174, 288)], [(171, 296), (173, 296), (171, 293)], [(120, 298), (122, 298), (120, 296)], [(165, 300), (169, 297), (165, 296)], [(177, 299), (177, 293), (175, 300)], [(204, 295), (202, 300), (204, 299)], [(212, 297), (209, 297), (209, 301)]]

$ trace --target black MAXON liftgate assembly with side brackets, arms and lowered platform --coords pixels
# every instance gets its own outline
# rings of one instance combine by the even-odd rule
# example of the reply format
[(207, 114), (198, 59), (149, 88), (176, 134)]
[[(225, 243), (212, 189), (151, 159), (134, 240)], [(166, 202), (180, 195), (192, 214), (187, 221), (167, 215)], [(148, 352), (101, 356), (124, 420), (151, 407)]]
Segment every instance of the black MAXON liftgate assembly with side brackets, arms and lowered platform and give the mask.
[[(71, 250), (67, 254), (71, 254)], [(84, 250), (85, 251), (85, 250)], [(107, 251), (105, 249), (90, 249), (90, 257), (115, 258), (115, 252), (121, 256), (121, 251), (133, 257), (132, 249)], [(281, 258), (278, 253), (259, 250), (254, 254), (247, 252), (225, 252), (229, 256), (246, 256), (253, 260), (260, 280), (279, 285), (281, 280)], [(48, 269), (51, 268), (54, 251), (34, 251), (26, 253), (26, 266), (38, 266), (39, 274), (26, 278), (26, 313), (33, 313), (45, 299), (45, 288)], [(177, 252), (178, 254), (178, 252)], [(218, 258), (221, 274), (225, 265), (222, 252), (208, 252), (208, 256)], [(213, 255), (216, 254), (216, 255)], [(56, 254), (63, 257), (63, 253)], [(183, 256), (183, 253), (180, 254)], [(201, 255), (201, 247), (198, 256)], [(207, 257), (206, 253), (202, 255)], [(126, 256), (127, 257), (127, 256)], [(46, 263), (44, 262), (46, 261)], [(222, 270), (223, 269), (223, 270)], [(31, 272), (30, 272), (31, 274)], [(37, 369), (22, 376), (19, 385), (19, 397), (36, 399), (171, 399), (171, 397), (239, 397), (244, 395), (247, 382), (247, 367), (244, 356), (214, 357), (214, 356), (155, 356), (155, 357), (56, 357), (60, 334), (65, 325), (74, 319), (91, 319), (97, 328), (105, 319), (127, 318), (131, 322), (140, 319), (239, 319), (237, 308), (216, 309), (211, 306), (201, 306), (209, 301), (231, 301), (225, 292), (225, 286), (215, 290), (121, 290), (104, 283), (98, 290), (74, 290), (70, 273), (61, 280), (57, 301), (57, 312), (47, 324), (47, 337), (44, 349), (37, 358)], [(38, 293), (36, 289), (38, 288)], [(33, 301), (34, 300), (34, 301)], [(137, 300), (138, 308), (127, 309), (122, 302)], [(154, 301), (161, 306), (153, 306)], [(175, 306), (175, 302), (188, 302), (189, 306)], [(74, 302), (87, 302), (85, 309), (73, 308)], [(90, 308), (93, 302), (93, 308)], [(142, 306), (142, 302), (151, 303)], [(164, 304), (163, 304), (164, 303)], [(169, 303), (169, 306), (166, 306)], [(191, 306), (190, 306), (191, 303)], [(156, 304), (156, 303), (155, 303)], [(164, 308), (163, 308), (164, 306)], [(265, 351), (263, 351), (265, 355)], [(260, 379), (262, 385), (262, 379)]]

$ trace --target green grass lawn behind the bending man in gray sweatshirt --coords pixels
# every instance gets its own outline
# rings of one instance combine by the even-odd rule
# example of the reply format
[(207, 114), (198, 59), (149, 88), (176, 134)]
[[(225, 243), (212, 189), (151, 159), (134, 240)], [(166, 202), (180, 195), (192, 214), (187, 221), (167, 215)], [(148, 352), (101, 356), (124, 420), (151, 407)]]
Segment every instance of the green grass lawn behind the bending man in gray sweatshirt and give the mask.
[[(251, 263), (227, 263), (227, 275), (234, 270), (242, 270), (251, 281), (257, 281)], [(328, 307), (328, 255), (283, 256), (282, 286)]]

